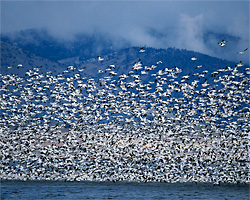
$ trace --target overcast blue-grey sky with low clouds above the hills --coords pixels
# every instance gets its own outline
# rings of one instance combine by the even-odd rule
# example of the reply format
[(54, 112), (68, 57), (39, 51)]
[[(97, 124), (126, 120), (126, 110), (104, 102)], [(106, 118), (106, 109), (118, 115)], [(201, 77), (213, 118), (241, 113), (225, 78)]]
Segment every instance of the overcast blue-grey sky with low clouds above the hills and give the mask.
[(239, 37), (234, 51), (249, 46), (249, 1), (1, 1), (2, 33), (29, 28), (62, 39), (102, 32), (132, 45), (214, 55), (204, 42), (208, 31)]

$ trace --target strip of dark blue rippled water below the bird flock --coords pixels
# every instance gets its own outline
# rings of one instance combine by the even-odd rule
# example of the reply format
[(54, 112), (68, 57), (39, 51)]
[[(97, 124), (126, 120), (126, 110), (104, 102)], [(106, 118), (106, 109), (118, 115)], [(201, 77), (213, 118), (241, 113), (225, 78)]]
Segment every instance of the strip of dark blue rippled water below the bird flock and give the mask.
[(1, 199), (249, 199), (249, 185), (1, 181)]

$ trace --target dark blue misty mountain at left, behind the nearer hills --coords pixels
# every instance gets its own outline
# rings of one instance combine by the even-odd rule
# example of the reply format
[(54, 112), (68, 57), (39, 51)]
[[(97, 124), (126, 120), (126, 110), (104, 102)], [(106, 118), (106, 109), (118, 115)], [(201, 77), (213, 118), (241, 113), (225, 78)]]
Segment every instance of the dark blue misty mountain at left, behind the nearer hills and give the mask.
[(86, 60), (125, 47), (125, 42), (121, 44), (101, 33), (82, 33), (75, 35), (72, 40), (62, 40), (52, 36), (45, 29), (28, 29), (8, 35), (2, 34), (1, 40), (52, 61), (71, 57)]

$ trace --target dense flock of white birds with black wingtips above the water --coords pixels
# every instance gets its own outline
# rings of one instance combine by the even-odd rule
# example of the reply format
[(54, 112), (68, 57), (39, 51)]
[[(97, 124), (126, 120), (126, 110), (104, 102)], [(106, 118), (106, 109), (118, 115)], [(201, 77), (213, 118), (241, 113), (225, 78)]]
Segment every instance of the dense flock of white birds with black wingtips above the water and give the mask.
[(250, 70), (190, 59), (192, 75), (140, 60), (99, 79), (1, 74), (1, 179), (249, 183)]

